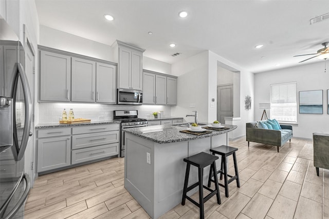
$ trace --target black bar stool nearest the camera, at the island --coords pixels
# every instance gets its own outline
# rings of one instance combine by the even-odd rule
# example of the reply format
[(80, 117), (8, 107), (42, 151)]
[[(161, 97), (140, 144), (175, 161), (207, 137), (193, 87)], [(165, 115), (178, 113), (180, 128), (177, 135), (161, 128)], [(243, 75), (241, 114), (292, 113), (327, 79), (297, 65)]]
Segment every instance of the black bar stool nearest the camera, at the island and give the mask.
[[(217, 196), (217, 203), (221, 204), (221, 196), (220, 196), (220, 188), (218, 187), (218, 180), (217, 177), (215, 177), (215, 190), (212, 190), (206, 186), (203, 185), (203, 177), (204, 177), (204, 168), (209, 166), (212, 167), (213, 175), (217, 176), (216, 173), (216, 163), (215, 161), (218, 159), (217, 156), (201, 152), (198, 154), (195, 154), (193, 156), (189, 156), (184, 158), (184, 162), (187, 163), (186, 165), (186, 173), (185, 173), (185, 181), (184, 181), (184, 189), (183, 189), (183, 195), (181, 200), (181, 205), (185, 205), (186, 198), (191, 201), (194, 205), (199, 207), (200, 209), (200, 219), (203, 219), (205, 217), (204, 213), (204, 203), (207, 202), (213, 195), (216, 194)], [(198, 168), (198, 178), (199, 181), (194, 183), (191, 186), (188, 185), (189, 181), (189, 174), (190, 174), (190, 167), (191, 165)], [(186, 193), (195, 187), (199, 186), (199, 203), (195, 202), (191, 197), (189, 197)], [(208, 194), (205, 198), (203, 195), (203, 188), (209, 190), (211, 193)]]

